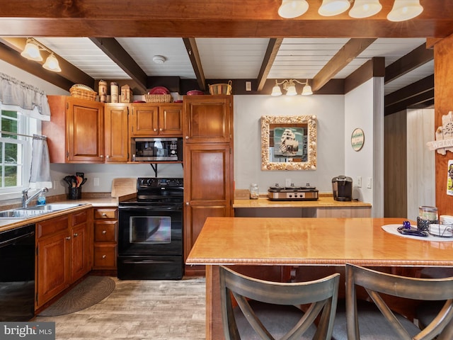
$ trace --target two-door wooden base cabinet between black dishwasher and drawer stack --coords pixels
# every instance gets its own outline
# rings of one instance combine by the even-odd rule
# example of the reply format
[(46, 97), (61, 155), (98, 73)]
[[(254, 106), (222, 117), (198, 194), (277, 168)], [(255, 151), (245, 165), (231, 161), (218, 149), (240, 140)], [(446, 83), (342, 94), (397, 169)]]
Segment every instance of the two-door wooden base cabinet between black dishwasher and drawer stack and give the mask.
[(91, 209), (36, 224), (35, 308), (57, 296), (91, 271)]

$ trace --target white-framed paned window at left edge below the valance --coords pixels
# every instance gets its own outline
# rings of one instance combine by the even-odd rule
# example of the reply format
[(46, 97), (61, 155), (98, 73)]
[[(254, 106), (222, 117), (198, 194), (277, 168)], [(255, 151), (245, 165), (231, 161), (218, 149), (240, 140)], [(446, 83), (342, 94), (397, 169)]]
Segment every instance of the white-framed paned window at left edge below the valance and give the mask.
[(37, 122), (16, 111), (1, 111), (0, 115), (0, 194), (21, 193), (28, 188), (32, 139)]

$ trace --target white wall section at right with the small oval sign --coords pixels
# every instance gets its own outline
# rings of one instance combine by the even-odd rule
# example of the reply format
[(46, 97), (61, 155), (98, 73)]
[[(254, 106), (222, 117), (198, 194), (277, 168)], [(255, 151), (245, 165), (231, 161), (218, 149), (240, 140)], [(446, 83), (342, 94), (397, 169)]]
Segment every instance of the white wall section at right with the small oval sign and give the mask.
[[(345, 95), (345, 176), (352, 178), (352, 198), (372, 203), (374, 217), (384, 215), (383, 93), (383, 79), (373, 78)], [(350, 140), (356, 128), (365, 133), (365, 143), (358, 152), (352, 149)], [(358, 177), (362, 178), (360, 188)]]

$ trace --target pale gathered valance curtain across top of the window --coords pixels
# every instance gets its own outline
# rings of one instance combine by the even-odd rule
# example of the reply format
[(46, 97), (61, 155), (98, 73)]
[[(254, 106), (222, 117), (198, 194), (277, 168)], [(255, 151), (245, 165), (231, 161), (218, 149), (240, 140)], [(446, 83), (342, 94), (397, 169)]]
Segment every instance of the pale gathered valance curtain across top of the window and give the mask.
[(50, 120), (50, 107), (44, 91), (0, 72), (2, 110), (18, 111), (39, 120)]

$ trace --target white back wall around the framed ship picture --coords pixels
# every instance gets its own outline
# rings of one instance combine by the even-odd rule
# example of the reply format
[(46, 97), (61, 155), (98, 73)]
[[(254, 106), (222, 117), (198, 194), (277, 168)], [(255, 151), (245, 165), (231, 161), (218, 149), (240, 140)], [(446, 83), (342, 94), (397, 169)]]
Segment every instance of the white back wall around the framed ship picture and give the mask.
[[(314, 171), (262, 171), (262, 115), (316, 115), (318, 119), (317, 169)], [(234, 180), (236, 189), (258, 183), (260, 193), (291, 179), (296, 186), (310, 183), (320, 192), (332, 192), (332, 179), (345, 169), (344, 96), (234, 96)]]

